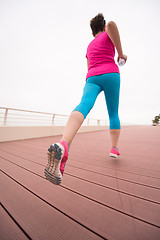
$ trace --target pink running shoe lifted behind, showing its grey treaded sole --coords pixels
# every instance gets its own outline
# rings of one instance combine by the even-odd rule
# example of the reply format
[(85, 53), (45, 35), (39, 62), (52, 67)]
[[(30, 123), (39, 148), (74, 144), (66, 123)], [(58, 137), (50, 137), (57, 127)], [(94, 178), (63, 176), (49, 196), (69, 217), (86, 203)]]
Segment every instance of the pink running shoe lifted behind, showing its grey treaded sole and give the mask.
[(60, 185), (66, 161), (68, 159), (68, 143), (60, 141), (50, 146), (48, 149), (48, 164), (44, 170), (47, 180)]

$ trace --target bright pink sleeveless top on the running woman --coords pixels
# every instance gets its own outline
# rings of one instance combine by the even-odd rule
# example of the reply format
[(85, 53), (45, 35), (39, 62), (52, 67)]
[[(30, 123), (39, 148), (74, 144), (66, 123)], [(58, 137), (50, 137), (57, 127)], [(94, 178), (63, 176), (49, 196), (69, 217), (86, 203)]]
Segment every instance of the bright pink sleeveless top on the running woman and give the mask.
[(89, 69), (86, 79), (105, 73), (119, 73), (119, 68), (114, 61), (115, 47), (107, 32), (100, 33), (88, 45), (86, 57)]

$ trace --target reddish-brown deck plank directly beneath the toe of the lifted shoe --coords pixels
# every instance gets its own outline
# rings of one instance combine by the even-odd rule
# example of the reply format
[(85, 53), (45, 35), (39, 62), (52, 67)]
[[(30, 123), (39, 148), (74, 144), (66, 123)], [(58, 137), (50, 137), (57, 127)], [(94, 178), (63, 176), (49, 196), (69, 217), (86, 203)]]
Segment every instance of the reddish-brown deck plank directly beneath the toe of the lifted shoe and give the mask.
[[(6, 169), (4, 169), (5, 166)], [(109, 239), (113, 237), (130, 240), (159, 239), (160, 237), (157, 227), (123, 215), (67, 189), (57, 187), (24, 169), (19, 170), (13, 165), (10, 168), (7, 163), (5, 166), (3, 169), (21, 184), (105, 238), (109, 236)], [(9, 199), (8, 202), (10, 202)]]

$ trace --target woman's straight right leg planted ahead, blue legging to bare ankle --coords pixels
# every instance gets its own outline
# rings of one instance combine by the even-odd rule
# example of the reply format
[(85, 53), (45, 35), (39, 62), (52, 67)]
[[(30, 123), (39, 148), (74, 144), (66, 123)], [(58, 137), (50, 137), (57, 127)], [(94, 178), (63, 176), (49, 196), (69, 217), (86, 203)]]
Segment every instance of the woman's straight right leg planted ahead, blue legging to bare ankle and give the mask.
[(110, 135), (112, 147), (117, 148), (120, 135), (120, 120), (118, 116), (120, 75), (109, 73), (104, 85), (104, 93), (110, 119)]

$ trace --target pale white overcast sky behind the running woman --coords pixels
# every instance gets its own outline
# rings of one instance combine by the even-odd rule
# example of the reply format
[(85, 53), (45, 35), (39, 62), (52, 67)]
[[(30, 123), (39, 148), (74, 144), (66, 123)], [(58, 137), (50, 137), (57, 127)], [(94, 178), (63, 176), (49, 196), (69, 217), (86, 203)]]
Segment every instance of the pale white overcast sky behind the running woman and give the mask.
[[(99, 12), (116, 22), (128, 56), (121, 122), (151, 124), (160, 113), (159, 0), (0, 0), (0, 106), (70, 114), (85, 84), (89, 22)], [(108, 118), (103, 93), (88, 117)]]

